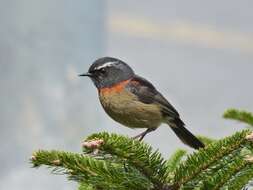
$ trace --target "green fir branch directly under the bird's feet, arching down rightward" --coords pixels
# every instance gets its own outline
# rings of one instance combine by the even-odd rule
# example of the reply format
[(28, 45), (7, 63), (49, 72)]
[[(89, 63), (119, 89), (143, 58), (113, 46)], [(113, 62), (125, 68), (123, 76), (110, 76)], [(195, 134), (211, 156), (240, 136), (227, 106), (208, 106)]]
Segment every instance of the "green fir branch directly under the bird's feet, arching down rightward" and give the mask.
[[(100, 139), (104, 143), (99, 150), (123, 159), (146, 176), (157, 189), (162, 189), (167, 179), (165, 160), (158, 151), (152, 152), (151, 146), (125, 136), (108, 133), (91, 135), (86, 141)], [(84, 149), (86, 151), (86, 149)]]

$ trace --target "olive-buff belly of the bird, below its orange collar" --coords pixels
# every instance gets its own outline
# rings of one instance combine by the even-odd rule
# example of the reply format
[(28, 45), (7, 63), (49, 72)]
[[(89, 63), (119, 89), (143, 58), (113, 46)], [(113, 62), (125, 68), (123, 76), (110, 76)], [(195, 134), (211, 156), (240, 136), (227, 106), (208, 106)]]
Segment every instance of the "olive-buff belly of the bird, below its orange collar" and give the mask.
[(127, 127), (157, 128), (162, 122), (158, 105), (144, 104), (130, 92), (99, 93), (99, 99), (106, 113)]

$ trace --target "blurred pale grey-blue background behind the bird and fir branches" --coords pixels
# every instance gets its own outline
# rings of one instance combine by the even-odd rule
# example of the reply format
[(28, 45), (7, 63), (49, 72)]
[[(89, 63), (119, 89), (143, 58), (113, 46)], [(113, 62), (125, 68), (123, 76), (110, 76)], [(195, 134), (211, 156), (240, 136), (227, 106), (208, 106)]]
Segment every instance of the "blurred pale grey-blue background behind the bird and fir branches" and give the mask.
[[(101, 56), (151, 80), (195, 134), (242, 129), (221, 118), (253, 111), (253, 2), (0, 0), (0, 189), (75, 189), (64, 176), (31, 169), (36, 149), (80, 152), (100, 131), (135, 135), (102, 110), (78, 78)], [(145, 141), (168, 157), (186, 148), (167, 127)]]

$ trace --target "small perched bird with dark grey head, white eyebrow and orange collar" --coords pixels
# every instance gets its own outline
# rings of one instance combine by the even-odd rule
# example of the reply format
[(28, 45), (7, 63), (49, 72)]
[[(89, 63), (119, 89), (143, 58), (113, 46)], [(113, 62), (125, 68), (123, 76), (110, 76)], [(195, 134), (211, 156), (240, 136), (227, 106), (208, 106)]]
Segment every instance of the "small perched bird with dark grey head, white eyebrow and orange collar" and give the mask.
[(146, 79), (136, 75), (125, 62), (103, 57), (87, 73), (98, 89), (105, 112), (115, 121), (130, 128), (147, 128), (134, 138), (142, 140), (161, 123), (168, 124), (181, 141), (199, 149), (204, 144), (184, 126), (177, 110)]

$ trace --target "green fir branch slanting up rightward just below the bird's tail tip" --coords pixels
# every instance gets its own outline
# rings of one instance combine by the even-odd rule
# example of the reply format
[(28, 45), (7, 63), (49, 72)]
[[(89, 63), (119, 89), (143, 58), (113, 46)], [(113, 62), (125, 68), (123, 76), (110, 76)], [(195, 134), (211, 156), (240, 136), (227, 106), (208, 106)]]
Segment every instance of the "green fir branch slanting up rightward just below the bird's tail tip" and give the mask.
[[(187, 185), (188, 182), (194, 181), (194, 178), (203, 173), (203, 171), (210, 170), (217, 161), (234, 151), (238, 151), (237, 149), (240, 149), (248, 142), (245, 138), (247, 134), (249, 134), (247, 130), (237, 132), (231, 137), (212, 143), (205, 149), (189, 155), (187, 160), (177, 168), (174, 184), (177, 187), (181, 187), (184, 184)], [(202, 177), (200, 178), (202, 179)]]

